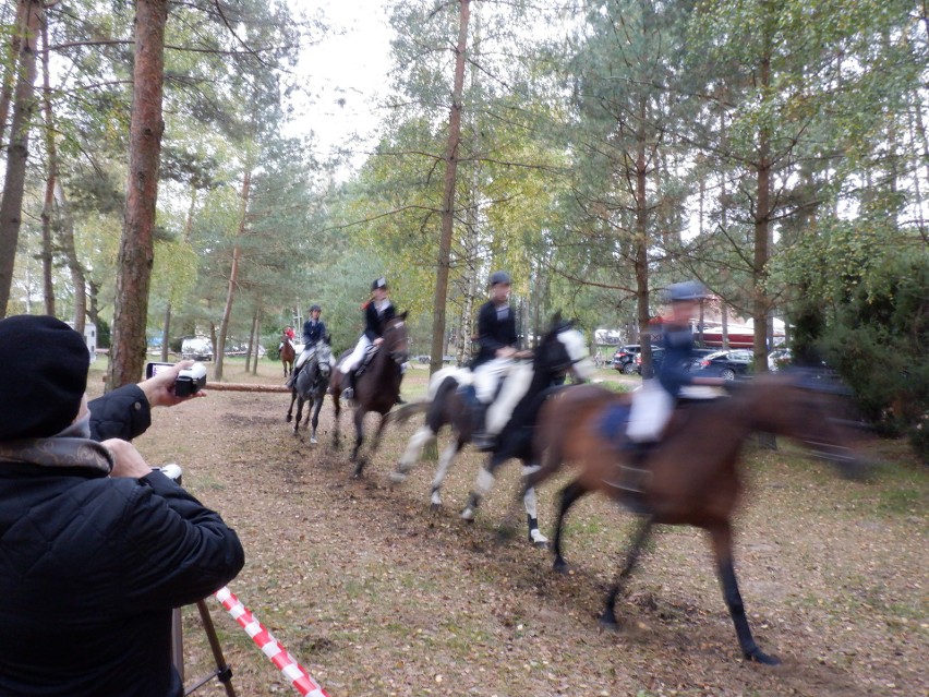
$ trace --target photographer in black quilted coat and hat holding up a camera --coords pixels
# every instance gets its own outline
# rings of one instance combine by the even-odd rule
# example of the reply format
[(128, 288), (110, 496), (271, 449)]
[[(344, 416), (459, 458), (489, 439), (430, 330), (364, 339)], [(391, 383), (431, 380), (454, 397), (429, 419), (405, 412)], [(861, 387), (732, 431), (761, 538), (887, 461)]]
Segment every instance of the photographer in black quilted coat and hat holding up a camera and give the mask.
[(180, 697), (171, 610), (239, 573), (238, 537), (132, 444), (91, 438), (76, 332), (9, 317), (0, 356), (0, 695)]

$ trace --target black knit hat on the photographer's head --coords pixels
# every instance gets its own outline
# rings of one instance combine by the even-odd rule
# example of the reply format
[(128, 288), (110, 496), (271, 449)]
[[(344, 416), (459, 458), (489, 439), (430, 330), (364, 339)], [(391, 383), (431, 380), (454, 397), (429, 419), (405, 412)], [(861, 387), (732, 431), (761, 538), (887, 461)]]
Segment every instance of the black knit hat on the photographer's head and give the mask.
[(0, 321), (0, 441), (47, 437), (77, 417), (91, 354), (83, 337), (46, 315)]

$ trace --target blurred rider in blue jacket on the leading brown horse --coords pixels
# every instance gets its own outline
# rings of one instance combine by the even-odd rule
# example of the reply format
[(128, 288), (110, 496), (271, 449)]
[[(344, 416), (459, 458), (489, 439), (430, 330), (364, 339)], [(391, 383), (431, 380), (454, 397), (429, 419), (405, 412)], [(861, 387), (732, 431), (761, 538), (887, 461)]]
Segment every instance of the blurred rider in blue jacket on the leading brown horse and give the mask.
[(634, 460), (641, 461), (664, 432), (671, 414), (681, 397), (687, 398), (691, 385), (723, 386), (722, 377), (707, 377), (690, 371), (693, 352), (691, 323), (699, 316), (700, 303), (709, 298), (703, 284), (687, 280), (672, 284), (665, 290), (671, 314), (662, 324), (664, 359), (654, 380), (642, 381), (642, 388), (632, 393), (627, 436)]

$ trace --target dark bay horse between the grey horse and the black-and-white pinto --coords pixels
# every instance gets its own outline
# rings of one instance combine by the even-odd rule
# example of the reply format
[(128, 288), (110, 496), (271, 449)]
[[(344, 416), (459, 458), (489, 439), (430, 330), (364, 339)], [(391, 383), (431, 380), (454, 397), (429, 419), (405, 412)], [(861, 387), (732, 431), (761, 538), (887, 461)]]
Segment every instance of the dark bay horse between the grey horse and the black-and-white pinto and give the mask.
[[(410, 357), (410, 339), (407, 331), (407, 313), (403, 312), (388, 321), (384, 327), (384, 341), (374, 352), (364, 372), (358, 376), (354, 385), (354, 447), (351, 452), (351, 460), (355, 464), (354, 477), (361, 477), (366, 464), (364, 457), (359, 457), (359, 450), (364, 442), (364, 417), (369, 411), (381, 414), (381, 423), (374, 436), (371, 452), (374, 453), (381, 443), (381, 434), (386, 425), (386, 416), (400, 395), (400, 381), (403, 378), (402, 365)], [(351, 349), (339, 357), (339, 364), (351, 353)], [(348, 375), (340, 370), (333, 371), (329, 392), (333, 395), (333, 404), (336, 407), (336, 432), (334, 446), (341, 447), (341, 432), (339, 430), (339, 416), (341, 404), (339, 397), (348, 387)]]

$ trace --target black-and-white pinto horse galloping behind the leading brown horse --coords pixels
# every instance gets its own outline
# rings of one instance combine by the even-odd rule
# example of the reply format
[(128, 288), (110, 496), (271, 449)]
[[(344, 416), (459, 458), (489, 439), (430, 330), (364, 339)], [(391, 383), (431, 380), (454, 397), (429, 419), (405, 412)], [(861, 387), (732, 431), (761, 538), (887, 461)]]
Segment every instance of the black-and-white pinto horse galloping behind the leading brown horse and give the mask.
[[(552, 328), (542, 338), (539, 348), (529, 354), (531, 360), (517, 360), (503, 383), (494, 402), (504, 409), (507, 422), (497, 438), (497, 445), (491, 450), (486, 469), (478, 476), (478, 491), (490, 490), (488, 474), (510, 458), (522, 460), (523, 477), (538, 469), (532, 457), (532, 433), (539, 408), (545, 395), (570, 372), (575, 380), (588, 380), (592, 365), (588, 359), (583, 335), (572, 324), (563, 323), (558, 315)], [(454, 441), (442, 452), (438, 468), (432, 482), (431, 501), (433, 508), (442, 505), (442, 484), (456, 455), (471, 441), (474, 423), (471, 400), (463, 390), (473, 383), (473, 374), (467, 368), (444, 368), (430, 380), (429, 396), (425, 401), (412, 402), (395, 409), (391, 420), (405, 421), (415, 413), (426, 412), (425, 423), (410, 437), (407, 449), (391, 474), (391, 480), (400, 483), (407, 472), (419, 461), (423, 447), (436, 438), (444, 425), (451, 426)], [(494, 406), (492, 406), (494, 408)], [(480, 495), (471, 493), (468, 507), (461, 516), (473, 520)], [(527, 490), (523, 497), (529, 525), (529, 540), (535, 545), (545, 546), (547, 539), (539, 530), (535, 491)]]

